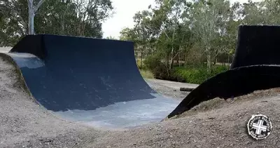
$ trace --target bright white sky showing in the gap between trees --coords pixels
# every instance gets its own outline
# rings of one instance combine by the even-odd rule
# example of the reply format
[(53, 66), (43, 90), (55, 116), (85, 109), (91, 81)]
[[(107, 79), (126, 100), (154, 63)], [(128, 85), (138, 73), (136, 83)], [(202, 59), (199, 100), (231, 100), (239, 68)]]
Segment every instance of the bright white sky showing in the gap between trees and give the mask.
[[(144, 11), (148, 9), (148, 6), (154, 5), (154, 0), (111, 0), (115, 14), (104, 22), (102, 29), (104, 32), (104, 38), (107, 36), (113, 36), (118, 38), (120, 31), (125, 27), (133, 27), (133, 16), (137, 11)], [(248, 0), (230, 0), (231, 2), (239, 1), (244, 3)], [(253, 0), (262, 1), (262, 0)]]

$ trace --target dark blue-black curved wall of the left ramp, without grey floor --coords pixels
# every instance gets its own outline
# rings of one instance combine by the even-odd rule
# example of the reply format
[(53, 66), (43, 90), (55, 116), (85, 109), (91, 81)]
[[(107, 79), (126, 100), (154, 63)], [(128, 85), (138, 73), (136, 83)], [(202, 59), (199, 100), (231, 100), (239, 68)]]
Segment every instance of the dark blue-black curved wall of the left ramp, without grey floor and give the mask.
[(132, 42), (38, 34), (25, 36), (8, 55), (36, 100), (55, 112), (155, 98), (139, 73)]

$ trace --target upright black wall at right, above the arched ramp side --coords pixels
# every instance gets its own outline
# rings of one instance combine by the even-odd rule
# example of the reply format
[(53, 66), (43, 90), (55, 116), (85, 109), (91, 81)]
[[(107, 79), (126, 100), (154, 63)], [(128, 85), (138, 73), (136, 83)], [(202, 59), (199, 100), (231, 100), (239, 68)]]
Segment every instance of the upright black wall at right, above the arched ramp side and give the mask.
[(280, 65), (279, 26), (240, 26), (231, 69), (251, 65)]

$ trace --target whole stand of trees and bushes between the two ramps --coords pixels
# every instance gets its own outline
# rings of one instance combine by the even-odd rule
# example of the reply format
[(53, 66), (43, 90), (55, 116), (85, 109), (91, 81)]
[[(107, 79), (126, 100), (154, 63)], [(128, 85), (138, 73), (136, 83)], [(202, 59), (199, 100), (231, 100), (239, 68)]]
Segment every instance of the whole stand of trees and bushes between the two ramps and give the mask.
[(140, 67), (155, 78), (202, 83), (228, 69), (239, 25), (279, 25), (279, 1), (231, 2), (155, 0), (120, 39), (134, 41)]

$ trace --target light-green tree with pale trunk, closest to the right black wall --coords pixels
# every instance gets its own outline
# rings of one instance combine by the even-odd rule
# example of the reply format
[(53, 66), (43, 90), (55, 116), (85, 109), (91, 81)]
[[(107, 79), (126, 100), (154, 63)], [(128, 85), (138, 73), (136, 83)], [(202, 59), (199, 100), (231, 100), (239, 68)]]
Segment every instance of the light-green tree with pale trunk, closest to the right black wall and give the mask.
[(211, 61), (216, 51), (214, 41), (225, 32), (225, 24), (230, 14), (230, 1), (198, 1), (191, 11), (192, 30), (195, 33), (204, 53), (207, 55), (207, 72), (211, 72)]

